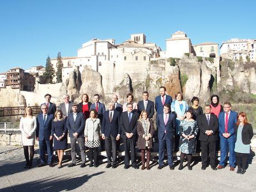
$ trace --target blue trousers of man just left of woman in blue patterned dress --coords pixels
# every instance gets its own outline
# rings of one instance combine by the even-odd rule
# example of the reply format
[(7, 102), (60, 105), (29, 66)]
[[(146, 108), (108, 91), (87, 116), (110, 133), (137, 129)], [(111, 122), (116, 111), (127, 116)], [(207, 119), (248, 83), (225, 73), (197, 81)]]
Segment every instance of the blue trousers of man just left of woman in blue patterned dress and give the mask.
[(158, 164), (160, 166), (164, 165), (164, 150), (166, 145), (166, 151), (168, 156), (168, 164), (169, 166), (173, 166), (173, 140), (168, 139), (166, 134), (164, 135), (163, 139), (159, 140), (159, 161)]

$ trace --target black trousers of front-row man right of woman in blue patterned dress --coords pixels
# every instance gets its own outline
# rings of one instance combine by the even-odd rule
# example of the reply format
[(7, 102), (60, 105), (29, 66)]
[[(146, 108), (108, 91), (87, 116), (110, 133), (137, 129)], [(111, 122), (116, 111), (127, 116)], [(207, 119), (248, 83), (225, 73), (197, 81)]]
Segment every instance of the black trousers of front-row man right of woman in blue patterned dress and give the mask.
[(202, 159), (202, 165), (207, 166), (207, 160), (208, 156), (210, 154), (210, 166), (213, 166), (215, 168), (215, 162), (216, 162), (216, 141), (201, 141), (201, 159)]

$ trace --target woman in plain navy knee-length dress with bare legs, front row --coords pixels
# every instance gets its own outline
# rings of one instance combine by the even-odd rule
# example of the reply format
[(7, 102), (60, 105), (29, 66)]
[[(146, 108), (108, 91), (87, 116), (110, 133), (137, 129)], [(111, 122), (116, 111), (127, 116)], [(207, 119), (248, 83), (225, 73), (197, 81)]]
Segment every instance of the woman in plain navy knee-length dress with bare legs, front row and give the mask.
[(62, 117), (62, 112), (57, 110), (52, 121), (53, 149), (58, 154), (58, 169), (62, 167), (64, 150), (67, 149), (67, 127), (66, 120)]

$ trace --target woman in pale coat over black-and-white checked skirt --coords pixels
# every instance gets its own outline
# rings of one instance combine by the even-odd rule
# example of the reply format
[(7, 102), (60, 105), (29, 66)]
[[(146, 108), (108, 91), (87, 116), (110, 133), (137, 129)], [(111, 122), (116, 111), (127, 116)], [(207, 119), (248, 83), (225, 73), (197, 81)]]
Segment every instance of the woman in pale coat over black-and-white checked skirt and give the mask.
[(98, 147), (100, 146), (101, 127), (97, 111), (90, 111), (90, 118), (85, 122), (85, 146), (89, 148), (90, 167), (97, 167)]

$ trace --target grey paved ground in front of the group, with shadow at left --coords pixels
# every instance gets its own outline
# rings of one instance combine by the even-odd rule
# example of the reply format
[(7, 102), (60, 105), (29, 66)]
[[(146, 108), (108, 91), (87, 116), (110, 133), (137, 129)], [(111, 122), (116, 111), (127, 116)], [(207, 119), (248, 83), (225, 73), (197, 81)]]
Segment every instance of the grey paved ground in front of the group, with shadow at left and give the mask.
[[(38, 151), (38, 150), (37, 150)], [(36, 152), (37, 152), (36, 151)], [(36, 164), (38, 154), (35, 155)], [(22, 191), (256, 191), (256, 160), (249, 164), (247, 173), (240, 175), (228, 168), (213, 171), (201, 170), (201, 163), (189, 171), (169, 170), (166, 166), (157, 170), (124, 170), (121, 163), (116, 169), (106, 169), (106, 163), (98, 168), (80, 168), (80, 163), (67, 168), (69, 159), (62, 169), (24, 169), (21, 146), (0, 146), (0, 192)], [(87, 163), (88, 165), (88, 163)]]

